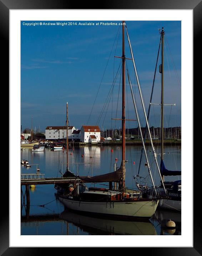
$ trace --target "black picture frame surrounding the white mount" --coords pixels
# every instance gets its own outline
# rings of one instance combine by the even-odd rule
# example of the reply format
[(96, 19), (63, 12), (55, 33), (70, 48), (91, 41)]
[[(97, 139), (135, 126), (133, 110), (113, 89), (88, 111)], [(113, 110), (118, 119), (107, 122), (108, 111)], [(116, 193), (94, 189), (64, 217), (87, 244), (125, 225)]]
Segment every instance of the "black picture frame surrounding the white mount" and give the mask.
[[(9, 82), (9, 10), (10, 9), (78, 9), (78, 3), (68, 0), (0, 0), (0, 33), (1, 33), (1, 50), (5, 58), (4, 65), (1, 68), (1, 74), (7, 78)], [(200, 32), (202, 31), (202, 0), (127, 0), (127, 1), (103, 1), (99, 3), (99, 9), (191, 9), (193, 10), (193, 40), (194, 40), (194, 81), (200, 81), (200, 67), (197, 59), (201, 59), (201, 41)], [(89, 2), (80, 1), (79, 9), (97, 9), (97, 5), (92, 6)], [(197, 50), (198, 49), (198, 50)], [(7, 87), (9, 88), (9, 87)], [(191, 124), (193, 125), (193, 124)], [(189, 134), (189, 137), (193, 136)], [(199, 172), (199, 173), (198, 173)], [(197, 176), (194, 176), (194, 184), (198, 184), (196, 180), (200, 180), (201, 171), (198, 169)], [(4, 179), (2, 191), (8, 191), (9, 172), (1, 173)], [(192, 175), (192, 174), (190, 174)], [(201, 214), (198, 208), (200, 191), (194, 187), (194, 206), (193, 206), (193, 247), (158, 247), (158, 248), (136, 248), (135, 253), (141, 249), (141, 253), (150, 253), (150, 255), (202, 255), (202, 236), (201, 236)], [(0, 227), (0, 255), (36, 255), (37, 253), (47, 253), (47, 248), (27, 248), (25, 247), (9, 247), (9, 193), (4, 193), (4, 206), (2, 209), (1, 227)], [(196, 203), (197, 202), (197, 203)], [(189, 216), (187, 216), (189, 218)], [(120, 241), (120, 240), (119, 240)], [(124, 247), (124, 240), (123, 247)], [(113, 245), (112, 245), (113, 246)], [(160, 245), (161, 246), (161, 245)], [(115, 246), (116, 247), (116, 246)], [(132, 246), (131, 246), (132, 247)], [(51, 255), (56, 253), (58, 248), (50, 248)], [(65, 248), (63, 248), (65, 249)], [(87, 248), (86, 248), (87, 249)], [(142, 251), (143, 250), (143, 251)], [(68, 252), (66, 251), (66, 254)], [(88, 251), (88, 253), (90, 253)]]

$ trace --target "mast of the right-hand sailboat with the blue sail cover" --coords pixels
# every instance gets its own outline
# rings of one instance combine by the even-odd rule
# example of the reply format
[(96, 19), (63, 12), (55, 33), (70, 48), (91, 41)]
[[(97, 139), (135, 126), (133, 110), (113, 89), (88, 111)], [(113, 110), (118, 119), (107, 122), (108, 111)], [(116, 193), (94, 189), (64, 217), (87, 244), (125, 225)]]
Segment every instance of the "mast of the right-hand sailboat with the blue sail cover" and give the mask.
[(164, 30), (162, 27), (161, 31), (161, 37), (162, 37), (162, 48), (161, 48), (161, 160), (163, 161), (163, 46), (164, 46)]

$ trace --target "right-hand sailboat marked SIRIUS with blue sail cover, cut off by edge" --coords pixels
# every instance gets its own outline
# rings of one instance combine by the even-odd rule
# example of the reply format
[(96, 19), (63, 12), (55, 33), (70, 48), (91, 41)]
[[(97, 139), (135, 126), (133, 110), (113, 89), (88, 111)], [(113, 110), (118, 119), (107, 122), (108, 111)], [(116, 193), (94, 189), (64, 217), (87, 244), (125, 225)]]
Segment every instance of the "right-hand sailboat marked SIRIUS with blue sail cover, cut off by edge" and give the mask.
[[(159, 187), (156, 187), (156, 192), (159, 198), (161, 198), (158, 207), (170, 209), (170, 210), (181, 210), (181, 180), (177, 181), (168, 181), (165, 182), (164, 176), (179, 176), (181, 175), (181, 171), (169, 171), (166, 169), (164, 164), (164, 127), (163, 127), (163, 110), (164, 110), (164, 93), (163, 93), (163, 82), (164, 82), (164, 28), (162, 27), (162, 30), (160, 30), (160, 44), (158, 48), (158, 55), (161, 46), (161, 64), (159, 67), (159, 72), (161, 73), (161, 163), (160, 163), (160, 174), (161, 174), (161, 185)], [(157, 62), (158, 62), (158, 55), (157, 55)], [(156, 67), (157, 67), (156, 62)], [(155, 75), (156, 75), (156, 68), (155, 68)], [(153, 80), (153, 86), (154, 86), (155, 76)], [(147, 114), (147, 120), (149, 118), (150, 114), (150, 107), (152, 102), (152, 94), (153, 94), (153, 86), (152, 86), (152, 93), (150, 98), (150, 106), (148, 108), (148, 114)], [(175, 105), (175, 104), (166, 104), (166, 105)], [(145, 128), (145, 136), (147, 133), (147, 127)], [(144, 138), (145, 141), (145, 138)], [(142, 159), (142, 154), (141, 154)], [(141, 165), (141, 159), (140, 159), (140, 165)], [(138, 170), (138, 175), (140, 172), (140, 165)], [(136, 179), (136, 177), (134, 177)], [(137, 186), (141, 189), (141, 191), (144, 191), (147, 195), (152, 195), (153, 188), (148, 188), (147, 186), (141, 186), (140, 184), (136, 183)], [(164, 199), (162, 199), (164, 198)]]

